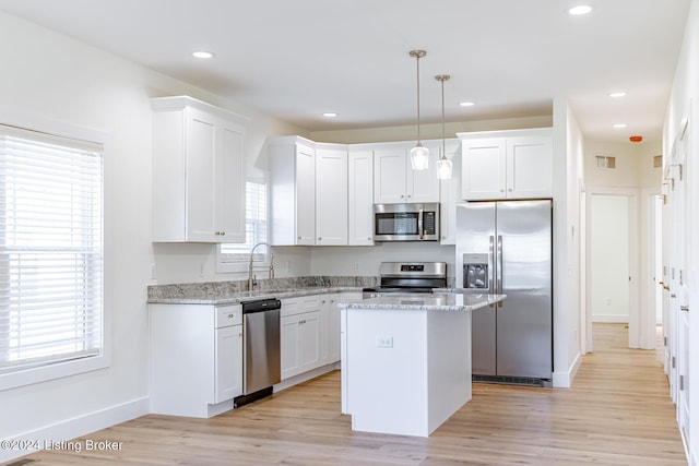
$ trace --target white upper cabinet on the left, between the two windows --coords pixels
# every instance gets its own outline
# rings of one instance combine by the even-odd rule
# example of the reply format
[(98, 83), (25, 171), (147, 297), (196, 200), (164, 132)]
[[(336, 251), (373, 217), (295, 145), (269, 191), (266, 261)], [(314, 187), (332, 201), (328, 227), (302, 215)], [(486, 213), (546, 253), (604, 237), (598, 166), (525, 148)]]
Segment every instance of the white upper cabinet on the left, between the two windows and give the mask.
[(151, 106), (153, 241), (245, 242), (245, 120), (186, 96)]

